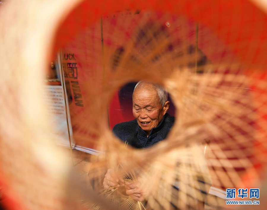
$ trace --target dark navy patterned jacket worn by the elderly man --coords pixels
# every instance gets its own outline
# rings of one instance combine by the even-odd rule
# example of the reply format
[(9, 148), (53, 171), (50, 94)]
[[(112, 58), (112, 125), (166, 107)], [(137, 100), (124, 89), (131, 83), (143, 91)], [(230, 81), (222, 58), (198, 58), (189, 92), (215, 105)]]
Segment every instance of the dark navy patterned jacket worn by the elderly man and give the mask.
[(118, 123), (112, 132), (123, 142), (135, 148), (146, 148), (166, 138), (174, 124), (174, 117), (166, 113), (160, 124), (153, 128), (149, 136), (137, 124), (136, 120)]

